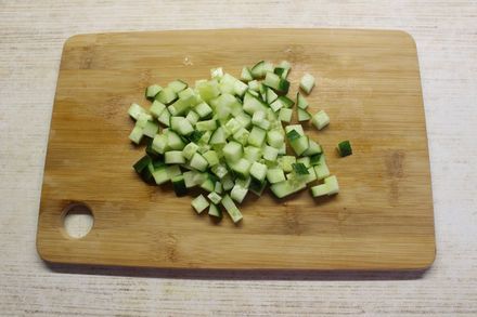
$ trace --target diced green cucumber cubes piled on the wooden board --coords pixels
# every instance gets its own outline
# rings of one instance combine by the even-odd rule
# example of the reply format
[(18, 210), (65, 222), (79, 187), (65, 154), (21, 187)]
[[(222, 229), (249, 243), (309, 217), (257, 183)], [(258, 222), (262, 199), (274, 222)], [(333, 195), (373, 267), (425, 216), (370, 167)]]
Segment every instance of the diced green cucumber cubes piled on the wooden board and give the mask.
[[(313, 197), (337, 194), (338, 182), (330, 174), (322, 147), (299, 123), (311, 120), (318, 130), (330, 123), (325, 111), (308, 111), (304, 93), (312, 91), (314, 77), (305, 74), (302, 93), (292, 100), (289, 71), (288, 62), (273, 66), (262, 61), (244, 67), (240, 79), (214, 68), (211, 79), (197, 80), (194, 87), (181, 80), (149, 87), (151, 107), (129, 108), (136, 120), (129, 138), (147, 144), (134, 170), (150, 184), (171, 182), (177, 196), (202, 188), (204, 194), (192, 201), (195, 211), (208, 210), (221, 219), (223, 208), (234, 223), (242, 220), (236, 204), (249, 193), (260, 196), (268, 185), (278, 198), (315, 181), (321, 184), (310, 186)], [(298, 123), (292, 124), (295, 105)], [(340, 156), (352, 153), (349, 141), (337, 149)]]

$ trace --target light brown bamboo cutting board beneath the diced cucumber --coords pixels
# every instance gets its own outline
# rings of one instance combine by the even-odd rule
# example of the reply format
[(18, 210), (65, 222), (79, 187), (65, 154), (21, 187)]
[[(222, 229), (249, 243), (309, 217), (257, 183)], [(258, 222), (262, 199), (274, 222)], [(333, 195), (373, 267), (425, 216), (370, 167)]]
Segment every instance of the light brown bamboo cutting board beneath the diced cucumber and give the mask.
[[(341, 191), (313, 200), (249, 195), (244, 220), (197, 215), (191, 197), (145, 185), (128, 134), (144, 88), (193, 83), (222, 66), (287, 60), (292, 95), (331, 124), (307, 132), (327, 151)], [(350, 140), (353, 155), (338, 158)], [(64, 210), (89, 206), (92, 230), (66, 235)], [(65, 43), (54, 100), (37, 237), (49, 262), (150, 267), (422, 269), (435, 259), (429, 159), (416, 47), (402, 31), (241, 29), (80, 35)]]

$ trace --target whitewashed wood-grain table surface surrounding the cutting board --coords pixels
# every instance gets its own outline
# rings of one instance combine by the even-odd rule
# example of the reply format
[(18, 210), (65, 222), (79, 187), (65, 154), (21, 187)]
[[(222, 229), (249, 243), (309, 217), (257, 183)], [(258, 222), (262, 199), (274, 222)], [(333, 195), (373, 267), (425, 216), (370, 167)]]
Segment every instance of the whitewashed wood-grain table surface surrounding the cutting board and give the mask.
[[(424, 275), (70, 269), (38, 257), (40, 188), (65, 39), (240, 27), (384, 28), (414, 37), (438, 249)], [(476, 92), (477, 1), (0, 0), (0, 315), (476, 316)]]

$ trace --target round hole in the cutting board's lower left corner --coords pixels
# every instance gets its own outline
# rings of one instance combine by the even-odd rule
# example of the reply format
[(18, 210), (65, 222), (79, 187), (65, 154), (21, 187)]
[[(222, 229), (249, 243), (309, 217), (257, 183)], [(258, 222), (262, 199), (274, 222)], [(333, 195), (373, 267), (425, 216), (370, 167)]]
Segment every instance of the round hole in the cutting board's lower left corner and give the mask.
[(91, 209), (85, 203), (73, 203), (65, 208), (63, 226), (66, 234), (75, 239), (86, 237), (94, 224)]

